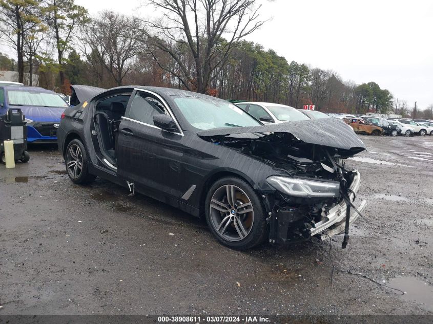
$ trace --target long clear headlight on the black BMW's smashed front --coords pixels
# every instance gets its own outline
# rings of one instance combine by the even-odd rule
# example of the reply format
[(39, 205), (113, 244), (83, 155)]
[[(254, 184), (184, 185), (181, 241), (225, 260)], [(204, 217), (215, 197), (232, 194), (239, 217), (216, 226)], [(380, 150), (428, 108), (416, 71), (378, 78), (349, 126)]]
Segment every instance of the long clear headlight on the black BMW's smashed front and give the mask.
[(336, 181), (325, 182), (280, 176), (271, 176), (266, 181), (276, 190), (295, 197), (332, 198), (338, 197), (340, 190), (340, 184)]

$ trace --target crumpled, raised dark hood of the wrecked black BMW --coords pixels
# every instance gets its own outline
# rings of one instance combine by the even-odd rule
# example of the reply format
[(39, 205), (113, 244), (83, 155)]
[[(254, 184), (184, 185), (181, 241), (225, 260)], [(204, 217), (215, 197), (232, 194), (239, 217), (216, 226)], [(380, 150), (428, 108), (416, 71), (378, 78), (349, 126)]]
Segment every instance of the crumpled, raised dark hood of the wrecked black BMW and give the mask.
[(335, 147), (350, 151), (352, 154), (366, 149), (358, 135), (344, 121), (337, 118), (311, 119), (251, 127), (213, 128), (200, 131), (197, 134), (201, 137), (219, 137), (245, 133), (289, 133), (305, 143)]

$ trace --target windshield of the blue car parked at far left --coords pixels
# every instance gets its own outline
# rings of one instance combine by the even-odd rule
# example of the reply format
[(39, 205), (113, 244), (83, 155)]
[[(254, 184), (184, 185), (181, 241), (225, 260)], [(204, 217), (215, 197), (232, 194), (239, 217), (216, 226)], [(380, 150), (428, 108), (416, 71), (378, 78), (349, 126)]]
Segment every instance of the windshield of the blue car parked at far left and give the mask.
[(20, 106), (68, 107), (57, 94), (37, 90), (8, 90), (9, 104)]

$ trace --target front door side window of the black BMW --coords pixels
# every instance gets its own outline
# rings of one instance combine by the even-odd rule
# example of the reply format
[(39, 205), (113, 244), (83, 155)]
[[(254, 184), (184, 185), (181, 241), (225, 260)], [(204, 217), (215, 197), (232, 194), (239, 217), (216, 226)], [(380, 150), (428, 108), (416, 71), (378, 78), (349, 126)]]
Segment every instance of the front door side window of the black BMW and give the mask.
[(145, 92), (137, 92), (126, 117), (153, 125), (153, 116), (157, 114), (166, 114), (161, 102)]

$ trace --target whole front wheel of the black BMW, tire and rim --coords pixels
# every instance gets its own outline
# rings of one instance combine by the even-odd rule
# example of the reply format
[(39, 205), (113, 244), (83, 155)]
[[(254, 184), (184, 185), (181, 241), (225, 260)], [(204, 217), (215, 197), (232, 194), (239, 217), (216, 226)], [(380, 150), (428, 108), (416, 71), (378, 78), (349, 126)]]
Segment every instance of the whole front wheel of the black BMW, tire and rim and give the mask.
[(265, 208), (246, 181), (236, 177), (217, 180), (209, 189), (204, 207), (206, 222), (221, 244), (246, 250), (263, 243), (267, 234)]

